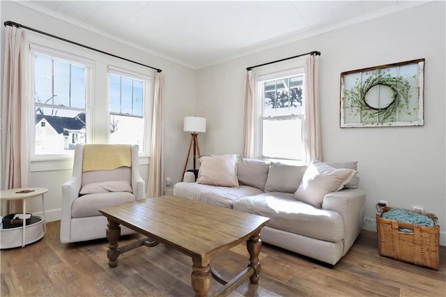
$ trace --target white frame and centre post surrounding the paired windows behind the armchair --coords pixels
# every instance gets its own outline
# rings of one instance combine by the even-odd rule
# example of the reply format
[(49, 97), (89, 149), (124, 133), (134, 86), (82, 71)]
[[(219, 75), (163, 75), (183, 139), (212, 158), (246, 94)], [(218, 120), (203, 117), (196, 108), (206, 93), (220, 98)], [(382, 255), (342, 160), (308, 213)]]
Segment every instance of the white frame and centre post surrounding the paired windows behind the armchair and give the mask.
[[(107, 143), (109, 135), (109, 86), (108, 86), (108, 70), (109, 67), (121, 69), (123, 72), (139, 74), (139, 77), (149, 78), (149, 90), (146, 110), (146, 135), (148, 135), (144, 145), (144, 153), (139, 153), (139, 165), (148, 165), (150, 161), (151, 147), (151, 123), (152, 123), (152, 106), (155, 82), (155, 70), (148, 69), (144, 66), (117, 59), (116, 57), (107, 56), (84, 47), (72, 45), (61, 40), (43, 36), (39, 33), (27, 32), (26, 35), (26, 79), (28, 82), (33, 81), (33, 66), (31, 62), (33, 59), (31, 54), (31, 47), (37, 49), (38, 52), (45, 53), (52, 56), (55, 54), (57, 59), (65, 58), (68, 61), (81, 63), (82, 65), (91, 66), (91, 70), (87, 74), (87, 94), (89, 98), (86, 102), (86, 133), (87, 143)], [(68, 152), (61, 155), (36, 155), (34, 151), (35, 146), (35, 107), (34, 107), (34, 86), (31, 83), (26, 86), (26, 104), (29, 107), (28, 111), (28, 133), (29, 139), (33, 142), (29, 146), (29, 158), (31, 160), (31, 172), (46, 172), (53, 170), (69, 170), (72, 169), (73, 153)], [(104, 108), (107, 106), (107, 108)]]

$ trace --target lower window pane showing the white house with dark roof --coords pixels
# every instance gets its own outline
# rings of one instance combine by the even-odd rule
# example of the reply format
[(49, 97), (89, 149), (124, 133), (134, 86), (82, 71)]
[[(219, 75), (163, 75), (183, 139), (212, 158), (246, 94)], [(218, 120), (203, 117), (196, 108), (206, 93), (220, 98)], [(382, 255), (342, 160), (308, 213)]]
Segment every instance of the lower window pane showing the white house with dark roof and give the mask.
[(85, 113), (36, 107), (37, 154), (58, 154), (86, 143)]

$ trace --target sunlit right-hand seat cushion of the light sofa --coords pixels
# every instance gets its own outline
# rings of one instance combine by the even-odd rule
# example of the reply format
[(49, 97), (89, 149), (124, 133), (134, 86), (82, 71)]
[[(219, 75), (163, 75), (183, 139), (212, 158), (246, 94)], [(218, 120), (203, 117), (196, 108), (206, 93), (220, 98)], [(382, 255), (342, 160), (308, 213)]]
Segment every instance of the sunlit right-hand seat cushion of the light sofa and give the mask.
[(294, 199), (293, 194), (267, 192), (234, 201), (233, 208), (270, 218), (267, 226), (337, 242), (344, 236), (344, 222), (336, 211), (326, 211)]

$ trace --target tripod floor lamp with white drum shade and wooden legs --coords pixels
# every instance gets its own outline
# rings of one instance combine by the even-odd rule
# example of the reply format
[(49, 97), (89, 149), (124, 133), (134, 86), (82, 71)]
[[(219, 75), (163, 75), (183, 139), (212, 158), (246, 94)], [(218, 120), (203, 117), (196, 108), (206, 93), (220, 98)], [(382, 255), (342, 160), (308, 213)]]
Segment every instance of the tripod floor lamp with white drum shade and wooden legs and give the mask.
[(189, 150), (187, 151), (186, 162), (184, 163), (183, 174), (181, 174), (181, 181), (183, 181), (184, 179), (184, 174), (186, 172), (187, 163), (189, 162), (191, 149), (193, 149), (194, 153), (194, 159), (193, 159), (194, 170), (196, 169), (197, 156), (198, 157), (201, 156), (200, 146), (198, 144), (198, 133), (206, 132), (206, 119), (199, 118), (198, 116), (185, 116), (183, 130), (184, 132), (190, 132), (191, 137), (190, 137)]

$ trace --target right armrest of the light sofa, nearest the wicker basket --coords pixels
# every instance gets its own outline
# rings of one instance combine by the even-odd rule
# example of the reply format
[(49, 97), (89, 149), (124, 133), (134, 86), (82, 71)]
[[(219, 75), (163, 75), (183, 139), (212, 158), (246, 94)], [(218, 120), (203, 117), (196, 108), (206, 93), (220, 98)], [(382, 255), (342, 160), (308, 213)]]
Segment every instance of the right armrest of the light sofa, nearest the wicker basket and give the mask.
[(322, 209), (336, 211), (344, 220), (344, 254), (351, 248), (364, 220), (365, 192), (359, 189), (340, 190), (325, 195)]

